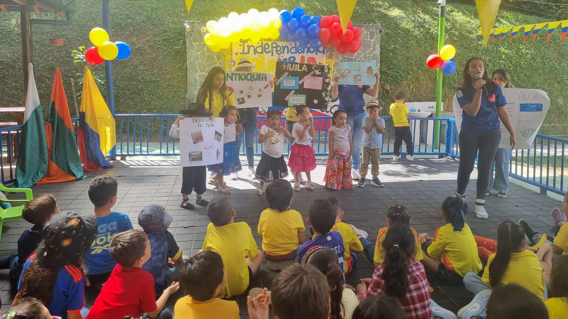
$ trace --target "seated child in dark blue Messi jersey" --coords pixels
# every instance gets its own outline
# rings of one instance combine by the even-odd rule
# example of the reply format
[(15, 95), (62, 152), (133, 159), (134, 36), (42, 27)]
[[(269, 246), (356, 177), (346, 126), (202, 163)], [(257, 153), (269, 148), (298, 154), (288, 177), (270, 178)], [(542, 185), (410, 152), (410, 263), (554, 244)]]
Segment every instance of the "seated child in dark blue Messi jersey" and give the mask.
[(333, 225), (335, 225), (336, 208), (329, 202), (328, 199), (315, 199), (310, 205), (308, 212), (308, 225), (312, 226), (314, 230), (314, 239), (304, 242), (304, 245), (298, 253), (298, 262), (301, 263), (304, 255), (317, 246), (325, 246), (333, 249), (339, 258), (339, 267), (341, 271), (345, 270), (343, 254), (345, 247), (343, 246), (343, 238), (341, 234), (335, 230), (330, 232)]

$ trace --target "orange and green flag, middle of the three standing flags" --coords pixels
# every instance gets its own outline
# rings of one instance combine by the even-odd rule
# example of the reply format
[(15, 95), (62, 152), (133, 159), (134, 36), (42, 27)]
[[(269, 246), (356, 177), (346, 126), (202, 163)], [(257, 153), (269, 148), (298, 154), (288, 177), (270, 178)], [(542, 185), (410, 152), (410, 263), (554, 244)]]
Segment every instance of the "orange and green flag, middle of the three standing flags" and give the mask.
[(45, 137), (49, 158), (47, 173), (36, 184), (71, 182), (86, 178), (83, 175), (81, 158), (75, 142), (59, 66), (55, 69), (53, 77), (51, 104), (45, 122)]

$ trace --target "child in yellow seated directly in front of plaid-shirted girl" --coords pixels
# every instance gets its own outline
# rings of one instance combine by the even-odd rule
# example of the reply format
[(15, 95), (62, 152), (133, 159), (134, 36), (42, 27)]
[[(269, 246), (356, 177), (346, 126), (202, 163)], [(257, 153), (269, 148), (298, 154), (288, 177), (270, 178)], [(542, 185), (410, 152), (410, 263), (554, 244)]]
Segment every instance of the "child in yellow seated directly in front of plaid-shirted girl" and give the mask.
[[(389, 208), (387, 211), (387, 226), (379, 230), (377, 242), (375, 243), (375, 254), (373, 257), (373, 265), (375, 268), (385, 261), (385, 250), (383, 249), (382, 242), (385, 240), (389, 228), (396, 223), (404, 223), (410, 226), (411, 221), (412, 216), (410, 215), (410, 211), (408, 211), (408, 208), (403, 205), (396, 204)], [(414, 237), (416, 238), (416, 254), (414, 254), (414, 258), (417, 261), (421, 261), (424, 259), (424, 256), (422, 255), (422, 249), (420, 249), (418, 232), (416, 232), (416, 229), (412, 226), (410, 226), (410, 230), (412, 230), (412, 234), (414, 234)]]

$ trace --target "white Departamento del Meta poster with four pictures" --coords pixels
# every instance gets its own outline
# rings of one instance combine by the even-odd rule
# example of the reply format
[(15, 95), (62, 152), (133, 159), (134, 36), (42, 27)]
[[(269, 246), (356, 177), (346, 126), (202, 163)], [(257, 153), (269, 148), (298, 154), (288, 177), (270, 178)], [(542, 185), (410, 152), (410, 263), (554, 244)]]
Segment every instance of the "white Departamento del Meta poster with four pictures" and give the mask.
[(186, 117), (179, 121), (181, 167), (223, 162), (223, 122), (223, 117)]

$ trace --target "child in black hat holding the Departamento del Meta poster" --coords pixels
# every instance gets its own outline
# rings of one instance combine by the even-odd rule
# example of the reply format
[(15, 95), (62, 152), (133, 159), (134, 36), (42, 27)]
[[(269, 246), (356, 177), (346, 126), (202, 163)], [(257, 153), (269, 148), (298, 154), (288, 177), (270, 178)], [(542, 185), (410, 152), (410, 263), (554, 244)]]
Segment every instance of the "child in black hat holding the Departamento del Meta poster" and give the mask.
[[(205, 104), (190, 103), (186, 110), (179, 113), (187, 115), (187, 117), (211, 117), (211, 112), (205, 111)], [(170, 137), (179, 138), (179, 121), (185, 119), (185, 116), (178, 116), (172, 128), (170, 129)], [(206, 166), (186, 166), (182, 168), (181, 194), (182, 202), (179, 207), (184, 209), (194, 209), (195, 206), (189, 203), (189, 195), (195, 191), (195, 203), (199, 206), (207, 207), (207, 200), (201, 195), (207, 190), (207, 168)]]

